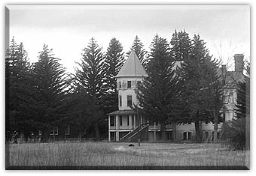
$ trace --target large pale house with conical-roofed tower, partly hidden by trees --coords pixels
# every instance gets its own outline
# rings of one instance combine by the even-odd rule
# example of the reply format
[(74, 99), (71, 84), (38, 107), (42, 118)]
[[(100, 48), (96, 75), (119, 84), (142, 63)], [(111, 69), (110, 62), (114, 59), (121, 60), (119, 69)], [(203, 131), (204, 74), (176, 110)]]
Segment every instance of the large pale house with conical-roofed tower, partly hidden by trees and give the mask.
[[(234, 55), (234, 59), (234, 71), (227, 71), (225, 65), (222, 65), (218, 70), (227, 82), (224, 91), (225, 108), (221, 109), (224, 121), (230, 121), (235, 118), (236, 83), (244, 80), (242, 73), (244, 66), (243, 55)], [(148, 74), (145, 68), (140, 63), (136, 53), (132, 51), (116, 76), (119, 108), (117, 111), (108, 114), (108, 141), (136, 142), (140, 139), (142, 141), (154, 142), (161, 139), (160, 124), (157, 122), (150, 123), (131, 108), (133, 104), (138, 104), (135, 91), (137, 85), (143, 82), (143, 78), (146, 76)], [(218, 131), (221, 130), (221, 126), (222, 124), (220, 123)], [(212, 123), (201, 122), (200, 131), (204, 140), (213, 139)], [(195, 139), (194, 123), (166, 125), (166, 140), (193, 141)]]

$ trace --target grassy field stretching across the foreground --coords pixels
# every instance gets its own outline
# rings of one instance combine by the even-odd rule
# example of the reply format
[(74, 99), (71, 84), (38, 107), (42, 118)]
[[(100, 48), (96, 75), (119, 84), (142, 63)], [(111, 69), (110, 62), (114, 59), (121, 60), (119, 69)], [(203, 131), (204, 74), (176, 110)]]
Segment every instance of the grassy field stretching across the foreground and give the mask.
[[(69, 166), (66, 169), (197, 169), (197, 166), (237, 169), (247, 166), (249, 151), (230, 151), (221, 145), (75, 142), (6, 145), (6, 167)], [(196, 166), (196, 167), (195, 167)], [(19, 168), (17, 167), (17, 168)], [(227, 167), (227, 168), (226, 168)], [(9, 167), (15, 169), (15, 167)], [(200, 169), (200, 168), (198, 168)]]

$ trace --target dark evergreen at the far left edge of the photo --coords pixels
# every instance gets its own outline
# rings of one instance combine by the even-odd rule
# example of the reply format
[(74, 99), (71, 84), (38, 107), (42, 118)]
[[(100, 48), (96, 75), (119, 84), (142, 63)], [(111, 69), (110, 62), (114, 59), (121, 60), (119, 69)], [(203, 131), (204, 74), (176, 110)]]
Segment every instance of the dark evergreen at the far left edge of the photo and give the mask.
[(29, 129), (25, 125), (27, 112), (23, 109), (23, 100), (27, 99), (25, 92), (28, 90), (29, 73), (31, 67), (23, 43), (17, 45), (13, 39), (6, 52), (5, 58), (5, 113), (6, 135)]

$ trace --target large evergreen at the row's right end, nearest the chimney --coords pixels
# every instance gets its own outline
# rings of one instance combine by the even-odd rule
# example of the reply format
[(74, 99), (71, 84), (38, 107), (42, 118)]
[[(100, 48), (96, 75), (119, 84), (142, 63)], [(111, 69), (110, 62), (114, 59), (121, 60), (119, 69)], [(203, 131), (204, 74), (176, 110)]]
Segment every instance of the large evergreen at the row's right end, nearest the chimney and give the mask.
[(199, 35), (194, 35), (191, 43), (190, 53), (178, 69), (180, 83), (184, 88), (181, 96), (184, 114), (180, 122), (194, 122), (197, 142), (200, 142), (200, 121), (208, 123), (218, 116), (223, 87), (218, 76), (218, 63), (212, 60), (206, 43)]

